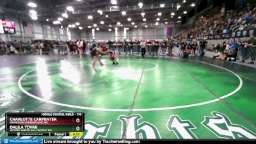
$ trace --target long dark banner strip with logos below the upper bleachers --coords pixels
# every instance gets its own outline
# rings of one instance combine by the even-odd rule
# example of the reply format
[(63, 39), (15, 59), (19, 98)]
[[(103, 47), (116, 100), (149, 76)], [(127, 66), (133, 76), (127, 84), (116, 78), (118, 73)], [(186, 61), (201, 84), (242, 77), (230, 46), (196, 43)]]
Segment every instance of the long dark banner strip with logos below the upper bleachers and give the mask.
[(218, 39), (229, 39), (229, 38), (244, 38), (250, 37), (250, 35), (256, 36), (256, 29), (248, 29), (244, 31), (234, 31), (232, 33), (223, 33), (217, 35), (204, 35), (204, 36), (196, 36), (196, 40), (218, 40)]

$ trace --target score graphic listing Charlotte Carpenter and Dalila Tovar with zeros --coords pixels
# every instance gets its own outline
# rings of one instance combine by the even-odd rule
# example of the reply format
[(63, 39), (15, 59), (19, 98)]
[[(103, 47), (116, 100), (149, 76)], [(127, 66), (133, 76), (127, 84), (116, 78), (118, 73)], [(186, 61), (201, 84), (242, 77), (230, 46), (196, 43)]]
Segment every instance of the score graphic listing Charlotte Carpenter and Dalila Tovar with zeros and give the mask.
[(70, 136), (84, 132), (84, 113), (5, 113), (8, 136)]

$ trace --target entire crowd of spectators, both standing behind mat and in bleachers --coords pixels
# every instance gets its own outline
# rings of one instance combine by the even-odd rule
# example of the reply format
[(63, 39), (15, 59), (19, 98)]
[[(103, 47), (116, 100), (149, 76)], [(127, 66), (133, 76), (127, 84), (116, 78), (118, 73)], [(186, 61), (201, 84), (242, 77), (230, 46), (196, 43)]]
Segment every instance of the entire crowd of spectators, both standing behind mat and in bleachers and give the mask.
[[(256, 29), (256, 7), (244, 8), (243, 10), (232, 10), (227, 13), (220, 13), (209, 19), (202, 20), (196, 24), (195, 28), (186, 29), (181, 33), (173, 36), (173, 38), (163, 41), (158, 40), (117, 40), (107, 42), (87, 42), (86, 40), (63, 41), (33, 41), (22, 42), (14, 40), (14, 42), (0, 41), (0, 54), (51, 54), (54, 49), (60, 54), (86, 54), (92, 51), (94, 47), (104, 47), (113, 49), (118, 54), (124, 53), (133, 55), (141, 54), (144, 56), (166, 54), (167, 56), (182, 56), (188, 58), (191, 56), (204, 56), (207, 40), (196, 41), (196, 36), (214, 35), (220, 33), (229, 33), (231, 30)], [(242, 61), (250, 58), (251, 62), (255, 61), (256, 51), (251, 52), (246, 47), (256, 45), (254, 36), (250, 38), (232, 38), (223, 40), (223, 44), (214, 45), (213, 58), (220, 60), (236, 61), (237, 53), (241, 53)], [(238, 51), (238, 47), (243, 49)], [(222, 48), (222, 49), (221, 49)], [(177, 50), (177, 51), (175, 51)], [(254, 51), (254, 50), (253, 50)], [(222, 53), (221, 53), (222, 52)], [(248, 55), (249, 54), (249, 55)]]

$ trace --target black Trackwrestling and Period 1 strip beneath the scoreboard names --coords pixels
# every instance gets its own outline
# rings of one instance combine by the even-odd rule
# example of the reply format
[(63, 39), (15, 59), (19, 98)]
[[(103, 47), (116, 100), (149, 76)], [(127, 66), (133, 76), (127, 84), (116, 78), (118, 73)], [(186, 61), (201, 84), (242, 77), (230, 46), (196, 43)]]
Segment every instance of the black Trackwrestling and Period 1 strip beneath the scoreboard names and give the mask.
[(69, 132), (8, 132), (7, 136), (70, 136)]

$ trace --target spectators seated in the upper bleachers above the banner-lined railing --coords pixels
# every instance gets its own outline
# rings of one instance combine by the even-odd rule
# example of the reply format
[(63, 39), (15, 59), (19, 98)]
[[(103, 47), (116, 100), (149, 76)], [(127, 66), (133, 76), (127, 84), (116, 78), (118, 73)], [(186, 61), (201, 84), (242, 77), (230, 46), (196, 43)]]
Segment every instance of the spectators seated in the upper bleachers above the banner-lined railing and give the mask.
[(195, 38), (196, 36), (229, 33), (233, 29), (234, 31), (256, 29), (256, 6), (246, 7), (242, 10), (230, 10), (208, 19), (198, 20), (195, 27), (181, 31), (175, 37)]

